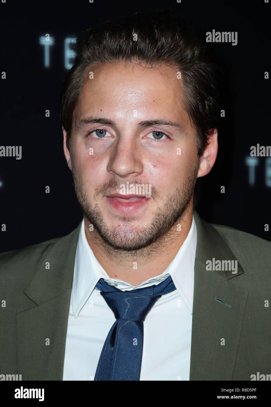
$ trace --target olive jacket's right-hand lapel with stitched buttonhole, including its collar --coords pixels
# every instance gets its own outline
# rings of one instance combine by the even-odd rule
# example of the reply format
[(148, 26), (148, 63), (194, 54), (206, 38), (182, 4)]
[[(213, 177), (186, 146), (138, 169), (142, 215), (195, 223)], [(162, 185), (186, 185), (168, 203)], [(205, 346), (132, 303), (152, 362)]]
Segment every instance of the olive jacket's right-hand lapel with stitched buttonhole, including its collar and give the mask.
[(189, 380), (231, 380), (248, 295), (233, 280), (244, 271), (239, 263), (237, 274), (206, 271), (206, 260), (237, 259), (212, 225), (196, 211), (194, 217), (197, 249)]

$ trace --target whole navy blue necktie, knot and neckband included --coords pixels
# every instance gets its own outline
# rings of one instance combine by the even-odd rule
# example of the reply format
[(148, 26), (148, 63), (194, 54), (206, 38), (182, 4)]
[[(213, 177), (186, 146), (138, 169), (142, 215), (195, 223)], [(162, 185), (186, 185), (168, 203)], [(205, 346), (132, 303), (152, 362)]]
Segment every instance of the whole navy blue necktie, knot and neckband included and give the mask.
[(143, 321), (163, 294), (176, 290), (172, 278), (168, 276), (157, 285), (132, 291), (121, 291), (101, 278), (96, 287), (116, 321), (105, 339), (94, 380), (139, 380)]

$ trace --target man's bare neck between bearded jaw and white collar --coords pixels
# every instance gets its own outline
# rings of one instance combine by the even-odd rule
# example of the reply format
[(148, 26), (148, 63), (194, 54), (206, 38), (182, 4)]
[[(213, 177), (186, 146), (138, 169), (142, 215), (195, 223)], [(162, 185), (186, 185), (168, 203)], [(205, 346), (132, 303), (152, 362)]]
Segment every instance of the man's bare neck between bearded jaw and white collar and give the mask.
[[(151, 245), (140, 250), (114, 249), (101, 238), (99, 232), (89, 231), (89, 221), (84, 216), (85, 234), (93, 254), (110, 278), (117, 278), (136, 286), (165, 271), (185, 241), (193, 220), (193, 205), (189, 204), (181, 219)], [(178, 230), (177, 225), (181, 225)]]

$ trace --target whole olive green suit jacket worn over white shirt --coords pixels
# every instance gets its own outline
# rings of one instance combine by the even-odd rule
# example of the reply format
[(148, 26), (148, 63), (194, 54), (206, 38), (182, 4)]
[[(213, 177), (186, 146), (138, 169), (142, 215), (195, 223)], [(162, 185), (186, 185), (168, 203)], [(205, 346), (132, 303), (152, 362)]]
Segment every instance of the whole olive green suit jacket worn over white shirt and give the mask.
[[(190, 380), (271, 374), (271, 243), (194, 217)], [(0, 255), (0, 374), (62, 380), (79, 230)], [(237, 273), (209, 260), (237, 260)]]

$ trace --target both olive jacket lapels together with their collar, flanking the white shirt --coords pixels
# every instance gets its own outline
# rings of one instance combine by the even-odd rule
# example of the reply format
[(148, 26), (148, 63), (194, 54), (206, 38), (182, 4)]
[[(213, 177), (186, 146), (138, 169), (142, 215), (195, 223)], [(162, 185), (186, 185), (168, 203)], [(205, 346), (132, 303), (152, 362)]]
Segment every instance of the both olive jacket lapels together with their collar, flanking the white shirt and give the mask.
[[(232, 282), (244, 271), (239, 264), (237, 274), (206, 271), (207, 260), (237, 259), (217, 230), (195, 210), (194, 218), (197, 248), (190, 380), (231, 380), (247, 299), (247, 291)], [(36, 305), (16, 315), (17, 370), (22, 380), (62, 380), (79, 231), (80, 224), (42, 254), (37, 274), (24, 290)], [(49, 269), (45, 269), (47, 262)]]

